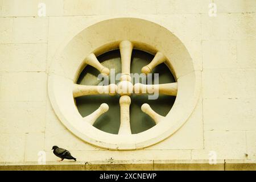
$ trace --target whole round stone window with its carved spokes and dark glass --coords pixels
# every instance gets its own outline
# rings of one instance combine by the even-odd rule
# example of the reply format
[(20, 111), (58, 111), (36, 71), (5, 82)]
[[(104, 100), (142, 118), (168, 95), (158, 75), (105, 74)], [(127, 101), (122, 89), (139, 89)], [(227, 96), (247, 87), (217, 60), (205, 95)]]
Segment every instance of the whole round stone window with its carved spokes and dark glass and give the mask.
[(77, 137), (135, 150), (180, 129), (200, 84), (200, 71), (174, 34), (147, 20), (117, 18), (63, 44), (50, 68), (48, 93), (60, 121)]

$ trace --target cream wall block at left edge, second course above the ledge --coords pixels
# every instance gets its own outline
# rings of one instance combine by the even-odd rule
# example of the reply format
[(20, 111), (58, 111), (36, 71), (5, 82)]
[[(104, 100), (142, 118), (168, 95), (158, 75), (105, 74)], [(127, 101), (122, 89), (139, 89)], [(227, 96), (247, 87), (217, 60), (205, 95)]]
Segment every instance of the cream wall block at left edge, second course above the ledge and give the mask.
[(45, 130), (46, 104), (43, 101), (2, 101), (0, 110), (1, 133), (40, 133)]

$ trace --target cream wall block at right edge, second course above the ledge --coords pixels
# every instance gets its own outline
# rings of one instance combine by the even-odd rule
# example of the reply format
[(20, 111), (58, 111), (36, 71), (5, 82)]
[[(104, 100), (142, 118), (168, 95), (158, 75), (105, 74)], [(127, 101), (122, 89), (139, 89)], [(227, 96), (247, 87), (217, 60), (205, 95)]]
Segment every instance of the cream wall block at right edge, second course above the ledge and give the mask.
[(256, 130), (256, 100), (247, 99), (205, 99), (205, 131)]

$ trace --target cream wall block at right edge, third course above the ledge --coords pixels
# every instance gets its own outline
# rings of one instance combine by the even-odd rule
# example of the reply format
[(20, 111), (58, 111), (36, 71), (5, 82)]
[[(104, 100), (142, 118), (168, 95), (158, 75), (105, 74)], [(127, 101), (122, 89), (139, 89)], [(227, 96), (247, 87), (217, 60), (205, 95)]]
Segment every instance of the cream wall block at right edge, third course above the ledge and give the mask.
[(255, 98), (255, 69), (204, 69), (203, 98)]

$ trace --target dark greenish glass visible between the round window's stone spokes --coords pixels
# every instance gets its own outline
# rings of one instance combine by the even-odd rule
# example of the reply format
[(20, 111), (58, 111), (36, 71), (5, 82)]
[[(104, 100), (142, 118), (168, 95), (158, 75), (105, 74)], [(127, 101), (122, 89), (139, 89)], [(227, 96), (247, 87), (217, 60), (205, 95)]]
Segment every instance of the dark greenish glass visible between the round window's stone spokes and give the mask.
[[(153, 55), (143, 51), (133, 50), (131, 57), (131, 73), (141, 73), (141, 68), (144, 65), (150, 63), (153, 59)], [(121, 59), (119, 50), (109, 51), (97, 57), (98, 60), (105, 66), (115, 69), (115, 73), (121, 72)], [(159, 73), (159, 84), (175, 82), (170, 70), (165, 64), (160, 64), (156, 67), (153, 73)], [(82, 71), (77, 84), (82, 85), (97, 85), (101, 80), (97, 80), (99, 72), (97, 69), (85, 67)], [(154, 78), (154, 77), (153, 77)], [(135, 80), (134, 80), (135, 81)], [(139, 82), (142, 82), (140, 79)], [(154, 82), (154, 79), (153, 79)], [(118, 80), (115, 80), (115, 84)], [(102, 131), (117, 134), (120, 125), (120, 107), (119, 107), (119, 95), (116, 96), (82, 96), (76, 98), (76, 105), (79, 113), (82, 117), (89, 115), (96, 110), (102, 103), (109, 105), (109, 111), (101, 115), (94, 123), (94, 127)], [(176, 97), (160, 95), (156, 100), (148, 100), (148, 95), (131, 95), (130, 105), (130, 123), (131, 132), (141, 133), (142, 131), (150, 129), (155, 125), (155, 122), (145, 113), (142, 112), (141, 106), (144, 103), (148, 103), (152, 109), (160, 115), (166, 115), (172, 105), (174, 104)]]

